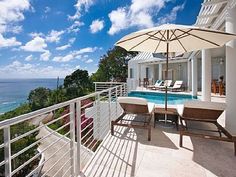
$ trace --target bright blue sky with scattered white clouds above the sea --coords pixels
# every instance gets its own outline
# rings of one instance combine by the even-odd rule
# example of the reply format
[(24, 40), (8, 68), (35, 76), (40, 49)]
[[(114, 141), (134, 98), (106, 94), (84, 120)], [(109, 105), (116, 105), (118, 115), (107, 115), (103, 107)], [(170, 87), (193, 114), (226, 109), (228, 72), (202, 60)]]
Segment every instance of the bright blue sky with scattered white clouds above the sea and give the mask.
[(193, 25), (202, 0), (0, 0), (0, 78), (96, 72), (116, 41), (164, 23)]

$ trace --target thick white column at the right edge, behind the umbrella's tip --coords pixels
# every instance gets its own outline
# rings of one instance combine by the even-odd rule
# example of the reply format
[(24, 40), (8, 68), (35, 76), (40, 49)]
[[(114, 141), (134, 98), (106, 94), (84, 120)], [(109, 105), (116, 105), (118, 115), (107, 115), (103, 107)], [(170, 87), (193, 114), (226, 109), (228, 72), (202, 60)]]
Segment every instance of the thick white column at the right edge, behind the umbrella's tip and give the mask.
[[(236, 33), (236, 7), (228, 9), (226, 32)], [(226, 44), (226, 128), (236, 135), (236, 40)]]

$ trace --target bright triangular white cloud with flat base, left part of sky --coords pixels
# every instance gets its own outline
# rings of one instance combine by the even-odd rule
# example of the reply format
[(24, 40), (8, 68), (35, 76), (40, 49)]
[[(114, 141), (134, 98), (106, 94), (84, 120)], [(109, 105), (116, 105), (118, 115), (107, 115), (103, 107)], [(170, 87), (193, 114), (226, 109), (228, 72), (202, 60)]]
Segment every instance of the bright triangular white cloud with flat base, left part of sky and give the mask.
[(29, 52), (45, 52), (46, 47), (47, 44), (45, 43), (45, 40), (37, 36), (20, 48)]

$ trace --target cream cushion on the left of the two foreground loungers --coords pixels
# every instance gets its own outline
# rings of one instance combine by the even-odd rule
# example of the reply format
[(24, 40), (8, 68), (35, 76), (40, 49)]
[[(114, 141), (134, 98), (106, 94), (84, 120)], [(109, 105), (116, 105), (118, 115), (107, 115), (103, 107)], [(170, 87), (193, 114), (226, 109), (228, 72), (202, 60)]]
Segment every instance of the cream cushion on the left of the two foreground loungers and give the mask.
[(125, 103), (125, 104), (135, 104), (135, 105), (147, 105), (148, 112), (151, 113), (155, 107), (154, 103), (148, 103), (146, 99), (144, 98), (138, 98), (138, 97), (118, 97), (119, 103)]

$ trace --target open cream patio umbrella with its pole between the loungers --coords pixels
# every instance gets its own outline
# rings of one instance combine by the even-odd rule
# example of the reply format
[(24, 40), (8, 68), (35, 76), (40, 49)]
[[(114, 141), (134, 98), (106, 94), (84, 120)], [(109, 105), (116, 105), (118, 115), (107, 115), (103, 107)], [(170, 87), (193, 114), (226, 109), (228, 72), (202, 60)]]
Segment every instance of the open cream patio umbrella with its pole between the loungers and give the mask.
[[(165, 79), (167, 80), (169, 52), (184, 53), (216, 48), (232, 39), (236, 39), (235, 34), (195, 26), (164, 24), (128, 34), (115, 45), (127, 51), (166, 53)], [(167, 86), (165, 110), (167, 110)]]

